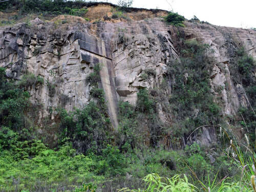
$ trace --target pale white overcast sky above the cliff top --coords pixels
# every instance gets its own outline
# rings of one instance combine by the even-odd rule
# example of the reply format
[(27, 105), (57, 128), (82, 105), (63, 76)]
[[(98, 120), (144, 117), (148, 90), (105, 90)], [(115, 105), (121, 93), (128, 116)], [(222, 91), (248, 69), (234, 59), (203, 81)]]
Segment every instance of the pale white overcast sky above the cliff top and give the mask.
[[(117, 4), (118, 0), (108, 2)], [(196, 15), (218, 26), (256, 28), (256, 0), (134, 0), (132, 7), (171, 11), (167, 2), (187, 19)]]

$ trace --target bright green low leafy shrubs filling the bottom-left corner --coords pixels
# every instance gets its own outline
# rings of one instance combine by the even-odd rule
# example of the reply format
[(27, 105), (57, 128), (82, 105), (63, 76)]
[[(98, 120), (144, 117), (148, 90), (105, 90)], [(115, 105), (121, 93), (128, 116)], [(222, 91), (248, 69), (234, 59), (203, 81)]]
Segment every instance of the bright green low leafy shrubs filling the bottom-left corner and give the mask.
[[(26, 142), (24, 141), (24, 143)], [(39, 146), (38, 142), (35, 146)], [(22, 156), (21, 159), (15, 158), (14, 155), (17, 151), (13, 153), (6, 150), (1, 151), (0, 190), (21, 191), (29, 189), (36, 191), (40, 188), (40, 190), (48, 191), (49, 188), (56, 187), (56, 190), (59, 191), (63, 190), (63, 187), (70, 188), (71, 185), (80, 185), (82, 182), (88, 183), (93, 180), (102, 181), (104, 178), (97, 176), (91, 170), (93, 164), (100, 164), (101, 161), (75, 153), (70, 143), (63, 146), (59, 145), (58, 151), (50, 150), (47, 147), (39, 148), (40, 150), (32, 146), (30, 151), (34, 156), (26, 158), (29, 147), (20, 147), (18, 154), (25, 154), (25, 158)], [(65, 183), (65, 185), (63, 186), (61, 183)]]

